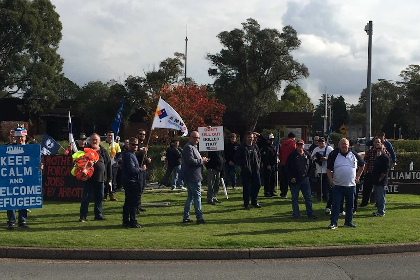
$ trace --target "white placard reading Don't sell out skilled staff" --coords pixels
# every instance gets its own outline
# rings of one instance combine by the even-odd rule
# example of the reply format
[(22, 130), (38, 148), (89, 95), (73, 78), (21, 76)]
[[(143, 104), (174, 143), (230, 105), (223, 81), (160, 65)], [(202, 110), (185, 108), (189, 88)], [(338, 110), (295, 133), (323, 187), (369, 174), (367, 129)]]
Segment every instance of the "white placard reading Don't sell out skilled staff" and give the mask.
[(200, 135), (199, 151), (225, 150), (223, 127), (198, 128), (198, 134)]

